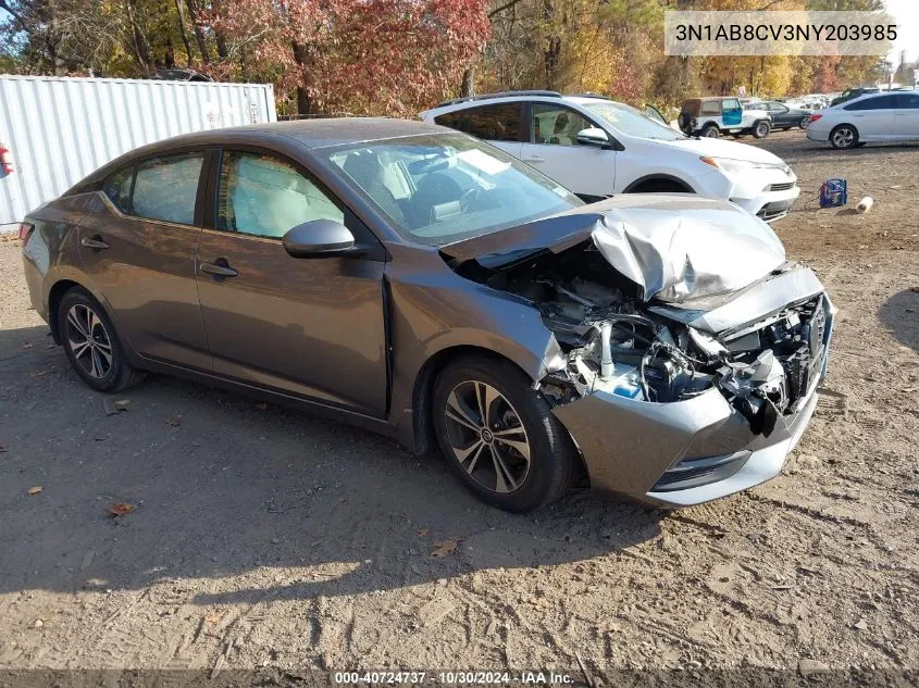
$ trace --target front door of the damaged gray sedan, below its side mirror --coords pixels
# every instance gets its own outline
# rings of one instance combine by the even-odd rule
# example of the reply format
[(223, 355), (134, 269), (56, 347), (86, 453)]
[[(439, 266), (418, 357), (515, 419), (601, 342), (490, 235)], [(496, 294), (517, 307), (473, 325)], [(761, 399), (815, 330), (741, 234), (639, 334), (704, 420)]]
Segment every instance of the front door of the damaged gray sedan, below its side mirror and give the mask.
[[(383, 416), (385, 250), (296, 162), (224, 150), (198, 246), (198, 293), (216, 375)], [(344, 223), (352, 254), (296, 259), (282, 237), (313, 220)]]

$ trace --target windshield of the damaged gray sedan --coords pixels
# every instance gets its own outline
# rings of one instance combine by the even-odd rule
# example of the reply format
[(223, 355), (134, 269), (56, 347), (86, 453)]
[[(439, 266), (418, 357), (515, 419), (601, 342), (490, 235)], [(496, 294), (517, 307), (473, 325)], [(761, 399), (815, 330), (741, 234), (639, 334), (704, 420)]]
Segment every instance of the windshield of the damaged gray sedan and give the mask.
[(327, 159), (417, 243), (444, 246), (583, 205), (548, 177), (464, 134), (359, 143)]

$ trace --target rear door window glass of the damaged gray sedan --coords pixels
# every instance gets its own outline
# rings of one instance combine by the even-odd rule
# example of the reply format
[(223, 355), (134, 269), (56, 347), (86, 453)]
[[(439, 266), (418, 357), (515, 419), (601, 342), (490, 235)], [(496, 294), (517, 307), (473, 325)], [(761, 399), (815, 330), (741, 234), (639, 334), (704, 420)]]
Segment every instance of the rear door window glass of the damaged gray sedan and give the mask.
[(137, 165), (131, 214), (183, 225), (195, 223), (195, 201), (204, 154), (182, 153)]

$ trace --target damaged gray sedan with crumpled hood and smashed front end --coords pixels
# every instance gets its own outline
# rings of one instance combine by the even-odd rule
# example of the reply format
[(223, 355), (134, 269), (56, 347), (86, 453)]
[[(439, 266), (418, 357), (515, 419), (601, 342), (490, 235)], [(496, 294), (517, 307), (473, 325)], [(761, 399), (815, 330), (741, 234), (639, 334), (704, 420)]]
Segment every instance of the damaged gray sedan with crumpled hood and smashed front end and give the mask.
[(77, 374), (145, 372), (439, 448), (525, 511), (576, 484), (656, 505), (778, 475), (834, 309), (770, 227), (693, 196), (585, 205), (462, 134), (223, 129), (128, 153), (21, 228)]

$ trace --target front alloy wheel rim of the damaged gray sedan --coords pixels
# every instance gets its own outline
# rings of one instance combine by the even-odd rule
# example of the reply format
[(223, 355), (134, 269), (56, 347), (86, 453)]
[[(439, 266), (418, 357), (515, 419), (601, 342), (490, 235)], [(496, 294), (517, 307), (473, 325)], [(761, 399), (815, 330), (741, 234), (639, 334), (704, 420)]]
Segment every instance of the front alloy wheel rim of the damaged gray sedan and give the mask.
[(530, 441), (510, 401), (479, 380), (457, 385), (447, 397), (446, 429), (454, 456), (485, 489), (517, 490), (530, 474)]

